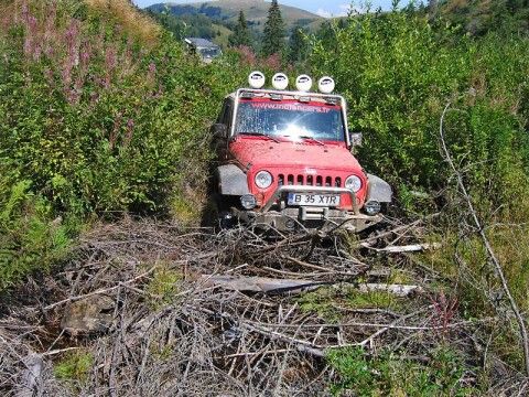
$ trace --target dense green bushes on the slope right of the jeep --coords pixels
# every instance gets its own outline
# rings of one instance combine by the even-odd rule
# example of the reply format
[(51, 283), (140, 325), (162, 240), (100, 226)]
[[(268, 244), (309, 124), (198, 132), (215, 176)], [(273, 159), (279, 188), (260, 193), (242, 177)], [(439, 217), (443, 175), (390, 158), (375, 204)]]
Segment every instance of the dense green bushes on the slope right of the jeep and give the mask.
[(349, 128), (364, 132), (359, 157), (368, 170), (403, 193), (443, 189), (450, 170), (439, 151), (439, 125), (451, 101), (447, 143), (472, 170), (465, 176), (486, 197), (483, 204), (497, 207), (526, 193), (528, 112), (520, 104), (528, 41), (455, 39), (450, 30), (440, 36), (427, 19), (404, 12), (349, 18), (331, 33), (314, 43), (314, 74), (336, 77)]

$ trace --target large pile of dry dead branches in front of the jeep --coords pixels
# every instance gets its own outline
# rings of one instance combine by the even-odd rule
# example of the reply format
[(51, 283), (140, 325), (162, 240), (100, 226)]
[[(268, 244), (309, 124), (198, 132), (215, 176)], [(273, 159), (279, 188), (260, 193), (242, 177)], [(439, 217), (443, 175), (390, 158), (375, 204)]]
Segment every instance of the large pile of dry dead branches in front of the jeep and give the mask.
[[(344, 288), (384, 286), (390, 270), (380, 264), (389, 254), (379, 248), (417, 243), (419, 229), (392, 225), (364, 240), (264, 239), (248, 229), (213, 236), (152, 221), (100, 225), (61, 272), (2, 300), (0, 393), (314, 396), (336, 376), (324, 360), (333, 348), (376, 354), (384, 346), (428, 362), (443, 341), (477, 360), (478, 331), (495, 319), (458, 319), (450, 299), (429, 291), (439, 276), (408, 254), (390, 254), (418, 287), (399, 311), (341, 303)], [(364, 248), (354, 257), (352, 247)], [(169, 286), (166, 272), (177, 275)], [(337, 297), (331, 320), (300, 301), (323, 287)], [(73, 353), (90, 357), (90, 369), (66, 380), (54, 367)]]

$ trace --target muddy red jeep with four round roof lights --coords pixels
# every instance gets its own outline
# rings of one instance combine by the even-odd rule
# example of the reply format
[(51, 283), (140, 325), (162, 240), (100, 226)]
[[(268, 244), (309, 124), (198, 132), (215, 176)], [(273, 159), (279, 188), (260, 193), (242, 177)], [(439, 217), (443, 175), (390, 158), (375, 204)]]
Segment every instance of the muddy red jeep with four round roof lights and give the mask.
[(262, 89), (259, 72), (249, 83), (253, 88), (226, 97), (212, 127), (220, 224), (359, 232), (379, 222), (391, 187), (352, 154), (361, 136), (347, 130), (346, 103), (332, 94), (334, 81), (322, 78), (321, 93), (309, 92), (306, 75), (298, 77), (296, 90), (284, 90), (283, 74), (273, 77), (274, 89)]

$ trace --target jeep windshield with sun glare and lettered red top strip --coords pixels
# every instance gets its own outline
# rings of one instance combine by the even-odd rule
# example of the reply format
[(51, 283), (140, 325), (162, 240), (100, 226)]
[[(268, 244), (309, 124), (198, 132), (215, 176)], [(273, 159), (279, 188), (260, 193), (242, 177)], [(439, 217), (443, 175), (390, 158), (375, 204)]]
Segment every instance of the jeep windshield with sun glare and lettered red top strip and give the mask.
[(241, 100), (235, 133), (269, 136), (293, 141), (344, 141), (341, 107), (295, 100)]

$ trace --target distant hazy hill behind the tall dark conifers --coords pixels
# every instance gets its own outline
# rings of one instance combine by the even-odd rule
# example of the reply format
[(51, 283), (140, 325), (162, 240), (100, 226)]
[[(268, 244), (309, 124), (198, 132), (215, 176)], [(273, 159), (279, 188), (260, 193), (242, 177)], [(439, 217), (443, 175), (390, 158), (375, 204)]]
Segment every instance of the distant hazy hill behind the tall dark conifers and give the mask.
[[(269, 8), (270, 2), (264, 0), (218, 0), (196, 3), (159, 3), (149, 7), (148, 10), (153, 12), (165, 11), (176, 17), (203, 14), (223, 24), (235, 23), (239, 11), (242, 10), (248, 24), (252, 29), (261, 31), (267, 21)], [(288, 30), (295, 25), (307, 26), (324, 21), (324, 18), (295, 7), (280, 4), (280, 9)]]

